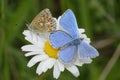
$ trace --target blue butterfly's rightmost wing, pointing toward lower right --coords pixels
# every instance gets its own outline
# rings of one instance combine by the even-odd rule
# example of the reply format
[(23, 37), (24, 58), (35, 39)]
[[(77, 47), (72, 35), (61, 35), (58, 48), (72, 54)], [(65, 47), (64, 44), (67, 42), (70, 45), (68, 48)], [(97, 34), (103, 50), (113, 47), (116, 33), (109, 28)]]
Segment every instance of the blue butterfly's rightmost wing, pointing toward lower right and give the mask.
[(83, 41), (78, 45), (78, 54), (80, 58), (95, 58), (99, 56), (98, 51), (94, 47)]

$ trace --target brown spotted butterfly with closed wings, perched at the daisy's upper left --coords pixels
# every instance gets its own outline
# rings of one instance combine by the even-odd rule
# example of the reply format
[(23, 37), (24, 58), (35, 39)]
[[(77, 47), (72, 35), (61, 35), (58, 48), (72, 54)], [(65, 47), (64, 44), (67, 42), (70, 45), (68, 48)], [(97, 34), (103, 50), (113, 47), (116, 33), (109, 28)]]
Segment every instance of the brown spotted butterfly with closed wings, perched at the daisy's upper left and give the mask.
[(48, 8), (42, 10), (28, 25), (28, 29), (35, 33), (46, 33), (56, 30), (57, 22)]

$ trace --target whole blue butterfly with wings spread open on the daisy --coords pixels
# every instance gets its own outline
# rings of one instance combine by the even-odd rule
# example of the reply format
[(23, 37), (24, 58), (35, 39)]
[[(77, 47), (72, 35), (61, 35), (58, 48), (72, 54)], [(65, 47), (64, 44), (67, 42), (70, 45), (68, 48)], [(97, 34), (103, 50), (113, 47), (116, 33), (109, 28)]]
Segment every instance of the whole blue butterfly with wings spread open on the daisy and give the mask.
[(60, 26), (65, 30), (57, 30), (50, 34), (50, 43), (60, 49), (58, 57), (65, 63), (71, 62), (75, 55), (79, 58), (94, 58), (99, 56), (98, 51), (91, 45), (83, 42), (79, 37), (78, 25), (74, 13), (68, 9), (60, 18)]

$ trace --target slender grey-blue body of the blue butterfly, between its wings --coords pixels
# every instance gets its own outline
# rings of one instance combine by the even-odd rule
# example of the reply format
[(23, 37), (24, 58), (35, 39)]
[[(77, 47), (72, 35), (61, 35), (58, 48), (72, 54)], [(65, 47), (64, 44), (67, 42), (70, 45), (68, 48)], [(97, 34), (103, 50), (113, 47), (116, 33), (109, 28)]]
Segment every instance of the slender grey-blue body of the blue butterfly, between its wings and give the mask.
[(65, 48), (67, 48), (69, 46), (73, 46), (73, 45), (77, 46), (78, 44), (81, 43), (81, 41), (82, 40), (80, 38), (73, 39), (72, 41), (70, 41), (70, 42), (66, 43), (65, 45), (63, 45), (60, 49), (62, 50), (62, 49), (65, 49)]

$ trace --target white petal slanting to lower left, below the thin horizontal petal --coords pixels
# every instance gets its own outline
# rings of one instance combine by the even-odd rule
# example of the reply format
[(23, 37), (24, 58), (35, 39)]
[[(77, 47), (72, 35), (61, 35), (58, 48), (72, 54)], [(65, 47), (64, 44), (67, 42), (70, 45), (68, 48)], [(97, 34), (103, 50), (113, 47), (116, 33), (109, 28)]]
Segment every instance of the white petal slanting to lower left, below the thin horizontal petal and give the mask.
[(40, 62), (42, 60), (47, 59), (48, 56), (47, 55), (36, 55), (34, 56), (27, 64), (28, 67), (32, 67), (33, 65), (35, 65), (37, 62)]

